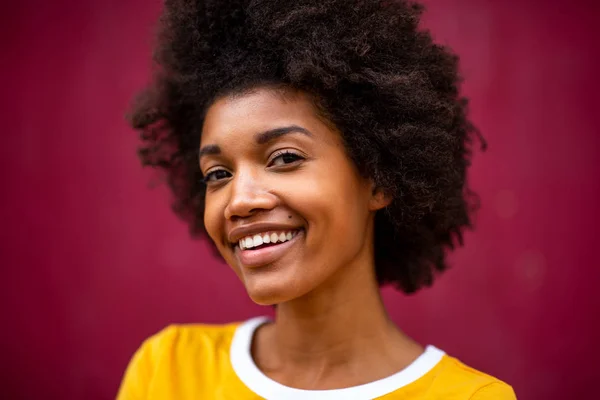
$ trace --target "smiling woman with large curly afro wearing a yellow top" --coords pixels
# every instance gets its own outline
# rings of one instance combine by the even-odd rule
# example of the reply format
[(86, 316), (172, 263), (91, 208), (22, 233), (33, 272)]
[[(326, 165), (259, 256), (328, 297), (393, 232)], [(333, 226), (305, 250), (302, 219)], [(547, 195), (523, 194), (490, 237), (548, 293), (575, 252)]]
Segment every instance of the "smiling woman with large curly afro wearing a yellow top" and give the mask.
[(514, 399), (389, 319), (462, 244), (477, 131), (404, 1), (172, 0), (132, 113), (144, 164), (274, 321), (171, 326), (119, 399)]

